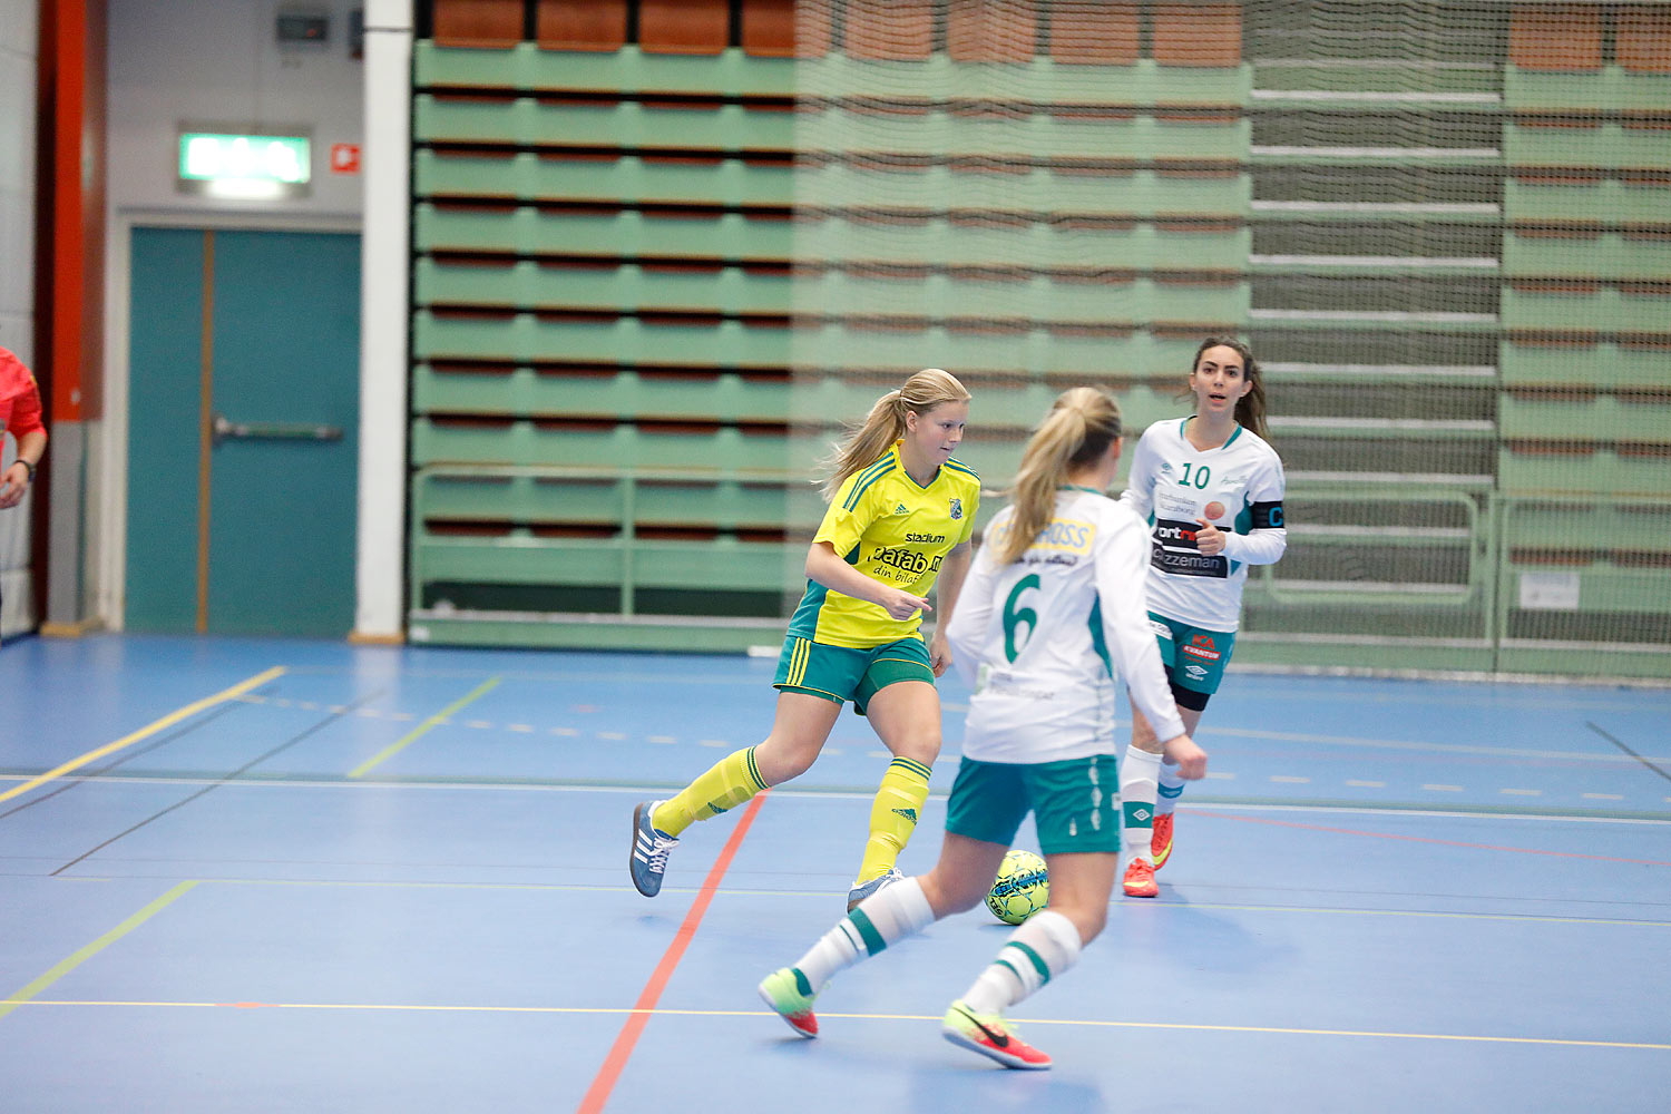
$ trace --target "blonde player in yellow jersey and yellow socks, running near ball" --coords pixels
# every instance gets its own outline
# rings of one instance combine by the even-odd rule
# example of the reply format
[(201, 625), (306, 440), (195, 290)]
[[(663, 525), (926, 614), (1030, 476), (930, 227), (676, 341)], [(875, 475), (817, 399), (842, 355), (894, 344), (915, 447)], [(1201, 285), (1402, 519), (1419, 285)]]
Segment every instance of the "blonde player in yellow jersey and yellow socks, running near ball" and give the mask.
[[(951, 665), (946, 625), (969, 571), (981, 478), (952, 459), (969, 421), (969, 392), (929, 367), (871, 408), (830, 461), (829, 509), (807, 549), (807, 591), (777, 661), (777, 717), (764, 742), (720, 758), (668, 800), (633, 810), (632, 880), (662, 889), (667, 855), (697, 820), (804, 773), (842, 705), (871, 720), (894, 755), (871, 807), (871, 835), (847, 894), (852, 909), (894, 882), (917, 827), (939, 755), (934, 678)], [(917, 630), (934, 585), (932, 641)]]

